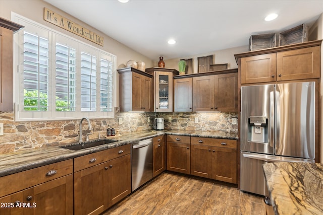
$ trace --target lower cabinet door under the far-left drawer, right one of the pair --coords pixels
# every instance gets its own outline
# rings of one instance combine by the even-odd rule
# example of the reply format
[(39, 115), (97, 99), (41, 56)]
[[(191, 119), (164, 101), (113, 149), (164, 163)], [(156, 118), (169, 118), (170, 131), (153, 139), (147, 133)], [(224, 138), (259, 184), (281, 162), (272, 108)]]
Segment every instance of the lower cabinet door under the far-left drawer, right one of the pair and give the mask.
[(24, 214), (73, 214), (73, 174), (23, 191)]

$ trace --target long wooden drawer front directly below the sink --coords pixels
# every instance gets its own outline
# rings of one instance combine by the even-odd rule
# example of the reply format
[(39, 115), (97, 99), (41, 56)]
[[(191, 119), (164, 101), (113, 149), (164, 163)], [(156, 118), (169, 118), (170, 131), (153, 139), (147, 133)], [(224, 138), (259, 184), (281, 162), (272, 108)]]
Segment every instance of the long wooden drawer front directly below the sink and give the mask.
[(113, 149), (74, 158), (74, 172), (129, 154), (130, 150), (131, 145), (128, 144), (121, 147), (116, 147)]

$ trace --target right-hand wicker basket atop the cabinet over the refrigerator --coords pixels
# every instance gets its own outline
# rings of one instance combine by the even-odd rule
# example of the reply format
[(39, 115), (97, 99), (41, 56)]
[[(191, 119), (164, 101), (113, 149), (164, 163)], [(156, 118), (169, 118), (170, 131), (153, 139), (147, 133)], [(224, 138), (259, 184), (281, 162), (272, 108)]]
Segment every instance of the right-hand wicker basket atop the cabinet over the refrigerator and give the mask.
[(279, 46), (307, 42), (307, 32), (308, 28), (305, 24), (283, 31), (279, 33)]

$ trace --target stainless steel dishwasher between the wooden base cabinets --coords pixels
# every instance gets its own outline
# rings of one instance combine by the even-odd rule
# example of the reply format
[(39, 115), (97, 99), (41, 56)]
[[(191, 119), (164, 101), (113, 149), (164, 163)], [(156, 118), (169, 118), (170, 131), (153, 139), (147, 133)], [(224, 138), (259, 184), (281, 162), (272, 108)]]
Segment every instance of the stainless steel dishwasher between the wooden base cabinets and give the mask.
[(152, 179), (152, 138), (132, 144), (131, 178), (132, 191)]

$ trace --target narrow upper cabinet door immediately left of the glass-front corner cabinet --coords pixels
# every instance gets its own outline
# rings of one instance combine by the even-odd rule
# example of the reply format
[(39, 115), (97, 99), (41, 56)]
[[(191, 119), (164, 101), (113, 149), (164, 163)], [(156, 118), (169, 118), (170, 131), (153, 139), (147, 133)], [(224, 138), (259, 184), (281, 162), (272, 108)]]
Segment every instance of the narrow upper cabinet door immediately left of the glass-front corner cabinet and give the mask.
[[(141, 88), (141, 110), (152, 111), (152, 79), (146, 76), (142, 76), (142, 88)], [(136, 99), (136, 98), (133, 98)]]

